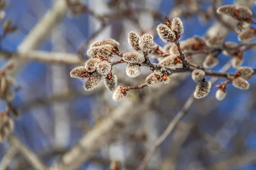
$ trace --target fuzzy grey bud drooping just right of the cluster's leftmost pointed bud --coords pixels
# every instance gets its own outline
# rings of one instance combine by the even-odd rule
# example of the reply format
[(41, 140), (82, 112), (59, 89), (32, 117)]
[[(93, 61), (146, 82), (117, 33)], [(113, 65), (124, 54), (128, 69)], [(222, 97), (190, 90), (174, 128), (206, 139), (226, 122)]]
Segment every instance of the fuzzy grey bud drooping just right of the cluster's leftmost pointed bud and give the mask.
[(87, 79), (87, 81), (84, 83), (84, 90), (91, 91), (94, 88), (96, 88), (100, 81), (102, 80), (102, 75), (98, 72), (93, 72), (90, 77)]

